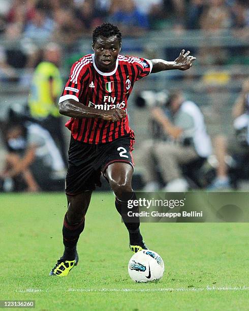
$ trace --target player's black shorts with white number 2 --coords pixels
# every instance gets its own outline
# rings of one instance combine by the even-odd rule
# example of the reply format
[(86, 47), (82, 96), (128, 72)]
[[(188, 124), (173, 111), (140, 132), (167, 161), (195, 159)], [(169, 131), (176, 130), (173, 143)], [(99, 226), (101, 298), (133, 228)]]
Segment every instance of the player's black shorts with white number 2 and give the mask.
[(71, 136), (66, 194), (76, 195), (101, 186), (101, 173), (104, 174), (111, 163), (124, 162), (134, 168), (131, 154), (134, 142), (130, 137), (120, 137), (105, 144), (91, 145)]

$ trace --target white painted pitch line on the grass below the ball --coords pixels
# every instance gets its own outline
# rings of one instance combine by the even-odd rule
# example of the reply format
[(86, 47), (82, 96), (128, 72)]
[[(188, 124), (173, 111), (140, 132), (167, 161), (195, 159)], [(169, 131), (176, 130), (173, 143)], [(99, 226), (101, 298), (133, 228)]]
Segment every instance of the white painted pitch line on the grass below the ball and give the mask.
[[(202, 292), (202, 291), (248, 291), (248, 286), (235, 286), (235, 287), (204, 287), (204, 288), (146, 288), (146, 289), (136, 289), (136, 288), (69, 288), (65, 289), (65, 292), (81, 292), (81, 293), (106, 293), (106, 292), (135, 292), (135, 293), (141, 293), (141, 292)], [(35, 289), (35, 288), (28, 288), (26, 290), (19, 290), (17, 292), (19, 293), (41, 293), (41, 292), (53, 292), (56, 290), (42, 290), (42, 289)]]

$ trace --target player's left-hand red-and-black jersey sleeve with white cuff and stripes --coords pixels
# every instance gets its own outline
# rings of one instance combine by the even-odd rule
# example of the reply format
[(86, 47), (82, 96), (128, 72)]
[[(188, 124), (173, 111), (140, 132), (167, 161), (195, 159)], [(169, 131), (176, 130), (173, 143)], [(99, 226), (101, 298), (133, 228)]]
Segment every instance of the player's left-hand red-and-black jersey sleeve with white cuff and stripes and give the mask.
[(61, 93), (59, 103), (68, 99), (79, 102), (82, 91), (88, 87), (89, 70), (85, 61), (76, 61), (71, 68), (70, 77)]

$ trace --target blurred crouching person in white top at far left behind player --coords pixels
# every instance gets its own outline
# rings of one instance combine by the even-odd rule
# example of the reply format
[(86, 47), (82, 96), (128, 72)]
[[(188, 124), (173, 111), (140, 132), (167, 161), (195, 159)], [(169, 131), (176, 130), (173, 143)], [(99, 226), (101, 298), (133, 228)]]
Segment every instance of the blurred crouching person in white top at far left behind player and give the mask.
[(30, 122), (7, 123), (5, 140), (8, 153), (4, 171), (0, 173), (4, 191), (48, 191), (54, 189), (58, 173), (60, 178), (64, 177), (60, 153), (41, 126)]

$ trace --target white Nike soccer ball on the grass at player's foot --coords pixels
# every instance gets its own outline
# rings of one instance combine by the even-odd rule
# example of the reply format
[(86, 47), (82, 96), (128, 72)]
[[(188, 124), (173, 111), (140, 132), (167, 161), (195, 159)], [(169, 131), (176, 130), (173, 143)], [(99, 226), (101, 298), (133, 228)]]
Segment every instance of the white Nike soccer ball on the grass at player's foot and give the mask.
[(128, 272), (135, 282), (157, 281), (164, 274), (164, 262), (157, 253), (142, 250), (130, 259)]

